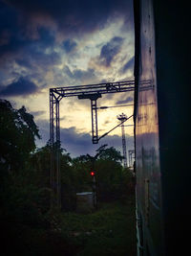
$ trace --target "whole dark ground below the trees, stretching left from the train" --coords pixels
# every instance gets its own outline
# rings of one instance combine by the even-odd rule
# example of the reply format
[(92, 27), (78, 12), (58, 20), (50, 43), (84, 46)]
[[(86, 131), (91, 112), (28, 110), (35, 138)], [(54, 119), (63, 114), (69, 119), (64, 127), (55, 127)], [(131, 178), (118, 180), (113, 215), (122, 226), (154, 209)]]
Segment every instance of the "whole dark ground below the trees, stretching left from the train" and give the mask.
[(52, 230), (15, 227), (4, 255), (136, 256), (134, 196), (99, 203), (89, 214), (62, 213), (56, 221)]

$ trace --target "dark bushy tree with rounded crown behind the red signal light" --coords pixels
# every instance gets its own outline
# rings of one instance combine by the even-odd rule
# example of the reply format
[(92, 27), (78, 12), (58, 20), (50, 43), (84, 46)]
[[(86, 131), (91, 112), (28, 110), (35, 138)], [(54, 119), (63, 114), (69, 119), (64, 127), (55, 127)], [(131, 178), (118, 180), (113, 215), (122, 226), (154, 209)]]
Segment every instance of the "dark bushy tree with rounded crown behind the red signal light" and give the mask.
[(115, 148), (102, 145), (96, 150), (96, 155), (81, 155), (74, 158), (73, 169), (77, 176), (78, 191), (92, 189), (91, 171), (96, 174), (96, 190), (99, 199), (117, 198), (120, 190), (122, 156)]

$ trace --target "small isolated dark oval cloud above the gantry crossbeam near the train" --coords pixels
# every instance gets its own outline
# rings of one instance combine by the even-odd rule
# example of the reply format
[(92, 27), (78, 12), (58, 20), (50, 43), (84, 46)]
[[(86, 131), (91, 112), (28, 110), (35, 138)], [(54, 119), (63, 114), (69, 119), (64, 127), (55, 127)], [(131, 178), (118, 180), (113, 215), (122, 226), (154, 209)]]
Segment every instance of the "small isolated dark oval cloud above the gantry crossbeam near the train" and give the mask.
[(115, 36), (107, 44), (103, 45), (99, 57), (101, 64), (107, 67), (110, 66), (112, 60), (120, 52), (123, 40), (122, 37)]

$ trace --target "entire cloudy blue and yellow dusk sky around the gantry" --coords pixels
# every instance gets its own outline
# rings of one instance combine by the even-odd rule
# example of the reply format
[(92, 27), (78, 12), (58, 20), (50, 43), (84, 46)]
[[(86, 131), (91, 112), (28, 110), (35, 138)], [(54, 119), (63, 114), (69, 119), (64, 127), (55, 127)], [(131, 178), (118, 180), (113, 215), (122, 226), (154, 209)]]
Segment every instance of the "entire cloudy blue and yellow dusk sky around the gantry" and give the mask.
[[(49, 140), (49, 89), (134, 79), (134, 16), (130, 0), (0, 0), (0, 98), (34, 116), (43, 147)], [(103, 95), (98, 134), (133, 113), (133, 92)], [(61, 144), (77, 156), (102, 144), (121, 151), (121, 129), (92, 144), (90, 100), (60, 102)], [(126, 125), (133, 124), (133, 120)], [(126, 127), (127, 151), (133, 127)]]

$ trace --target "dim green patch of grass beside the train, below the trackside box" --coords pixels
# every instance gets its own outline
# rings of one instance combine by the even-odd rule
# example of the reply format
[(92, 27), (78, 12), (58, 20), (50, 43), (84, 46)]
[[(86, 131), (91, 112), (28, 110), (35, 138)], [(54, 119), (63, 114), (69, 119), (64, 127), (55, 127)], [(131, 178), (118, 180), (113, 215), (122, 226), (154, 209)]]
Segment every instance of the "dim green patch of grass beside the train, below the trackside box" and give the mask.
[(102, 203), (92, 214), (63, 214), (62, 235), (78, 247), (77, 256), (136, 255), (135, 198)]

